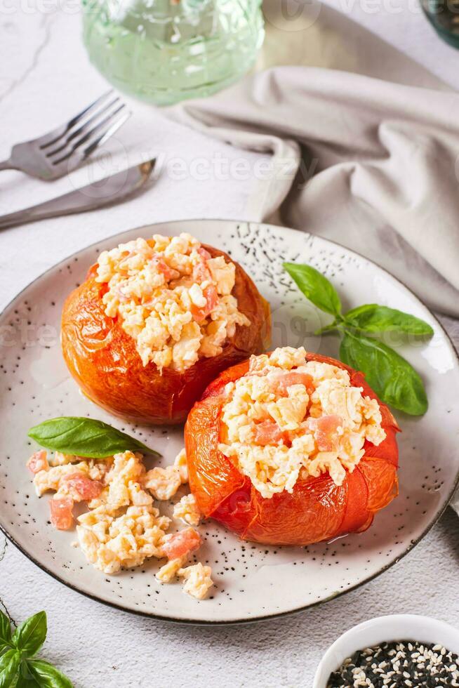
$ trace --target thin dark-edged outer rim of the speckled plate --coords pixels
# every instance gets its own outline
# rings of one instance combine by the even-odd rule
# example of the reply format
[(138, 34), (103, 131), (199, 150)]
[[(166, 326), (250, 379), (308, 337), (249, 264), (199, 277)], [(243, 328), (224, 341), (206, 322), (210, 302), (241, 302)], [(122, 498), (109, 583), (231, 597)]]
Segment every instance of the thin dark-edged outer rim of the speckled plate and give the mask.
[[(387, 274), (391, 279), (394, 280), (397, 284), (401, 285), (408, 293), (415, 298), (415, 300), (418, 300), (418, 302), (425, 307), (427, 312), (429, 312), (430, 316), (434, 319), (434, 322), (437, 324), (439, 327), (440, 331), (444, 334), (446, 341), (449, 343), (451, 346), (451, 350), (453, 351), (453, 355), (455, 357), (455, 362), (458, 364), (459, 367), (459, 352), (455, 349), (455, 345), (453, 344), (453, 340), (449, 336), (448, 332), (446, 329), (444, 329), (444, 326), (441, 324), (439, 319), (437, 318), (436, 315), (430, 310), (430, 307), (428, 307), (424, 301), (417, 296), (417, 294), (414, 293), (410, 287), (408, 287), (399, 277), (395, 277), (389, 270), (386, 270), (385, 267), (381, 267), (381, 265), (378, 265), (374, 260), (371, 260), (370, 258), (367, 258), (363, 254), (359, 253), (358, 251), (354, 251), (354, 249), (349, 249), (347, 246), (344, 244), (340, 244), (338, 242), (333, 242), (330, 239), (325, 239), (324, 237), (320, 237), (317, 234), (311, 234), (310, 232), (303, 231), (303, 230), (297, 230), (294, 227), (286, 227), (285, 225), (273, 225), (272, 223), (267, 223), (263, 221), (257, 221), (257, 220), (235, 220), (235, 219), (225, 219), (225, 218), (188, 218), (188, 219), (179, 219), (179, 220), (162, 220), (161, 222), (157, 223), (149, 223), (147, 225), (140, 225), (139, 227), (132, 227), (131, 229), (126, 229), (122, 230), (121, 232), (116, 232), (115, 234), (111, 234), (109, 237), (103, 237), (102, 239), (98, 239), (98, 241), (93, 242), (92, 244), (88, 244), (87, 246), (83, 246), (81, 249), (78, 249), (77, 251), (74, 251), (73, 253), (70, 253), (69, 256), (66, 256), (65, 258), (62, 258), (58, 263), (55, 263), (54, 265), (51, 265), (51, 267), (48, 267), (47, 270), (44, 270), (44, 272), (41, 272), (37, 277), (32, 279), (29, 284), (26, 284), (8, 303), (4, 306), (4, 308), (0, 311), (0, 318), (4, 316), (5, 312), (15, 303), (18, 298), (22, 296), (22, 294), (27, 291), (32, 285), (34, 285), (36, 282), (38, 282), (40, 279), (46, 276), (49, 272), (55, 270), (56, 268), (61, 267), (62, 265), (65, 265), (69, 260), (72, 260), (72, 258), (75, 258), (76, 256), (81, 253), (81, 251), (86, 251), (87, 249), (93, 248), (93, 246), (96, 246), (97, 244), (100, 244), (100, 242), (105, 242), (109, 241), (110, 239), (116, 239), (119, 237), (121, 234), (126, 234), (126, 232), (133, 232), (134, 230), (138, 230), (139, 232), (142, 230), (145, 230), (147, 227), (158, 227), (160, 225), (178, 225), (179, 223), (234, 223), (238, 224), (240, 223), (241, 225), (258, 225), (260, 226), (265, 226), (265, 227), (272, 227), (274, 230), (289, 230), (291, 232), (295, 232), (298, 234), (302, 234), (302, 236), (309, 236), (309, 237), (314, 237), (316, 239), (320, 239), (321, 242), (325, 242), (328, 245), (331, 246), (336, 246), (339, 249), (345, 249), (345, 251), (348, 251), (351, 254), (354, 254), (354, 256), (358, 256), (359, 258), (362, 258), (363, 260), (366, 260), (367, 263), (370, 263), (371, 265), (375, 265), (375, 267), (378, 267), (378, 270), (381, 270), (385, 274)], [(437, 514), (434, 516), (433, 520), (427, 525), (427, 527), (423, 530), (423, 532), (418, 536), (418, 538), (415, 538), (415, 540), (412, 540), (406, 550), (394, 559), (392, 562), (389, 562), (388, 564), (385, 564), (382, 568), (380, 568), (378, 571), (376, 571), (374, 574), (371, 574), (370, 576), (367, 576), (366, 578), (362, 579), (358, 583), (355, 583), (355, 585), (350, 586), (349, 588), (346, 588), (345, 590), (337, 590), (335, 593), (332, 593), (328, 597), (325, 597), (323, 600), (317, 600), (317, 602), (310, 602), (309, 604), (304, 604), (300, 607), (295, 607), (295, 609), (288, 609), (286, 611), (277, 611), (274, 612), (273, 614), (264, 614), (263, 616), (256, 616), (254, 618), (234, 618), (234, 619), (227, 619), (227, 620), (218, 620), (218, 621), (213, 621), (211, 619), (193, 619), (193, 618), (183, 618), (179, 616), (163, 616), (162, 614), (156, 614), (154, 612), (149, 612), (149, 611), (141, 611), (138, 609), (131, 609), (131, 607), (125, 607), (121, 603), (117, 602), (110, 602), (109, 600), (104, 600), (102, 597), (98, 597), (98, 595), (94, 595), (93, 593), (89, 593), (86, 590), (83, 590), (76, 586), (74, 583), (70, 583), (69, 581), (65, 581), (63, 578), (61, 578), (58, 574), (55, 574), (53, 571), (48, 569), (45, 564), (42, 564), (36, 558), (32, 555), (30, 555), (23, 547), (20, 545), (16, 540), (13, 535), (11, 535), (8, 532), (8, 529), (4, 527), (4, 525), (1, 523), (1, 518), (0, 518), (0, 531), (4, 534), (6, 538), (8, 538), (8, 541), (10, 541), (15, 548), (17, 548), (22, 555), (25, 555), (29, 561), (31, 561), (33, 564), (35, 564), (41, 571), (44, 571), (46, 574), (51, 576), (52, 578), (55, 579), (55, 581), (58, 581), (62, 585), (66, 586), (67, 588), (70, 588), (70, 590), (74, 590), (76, 593), (79, 593), (80, 595), (84, 595), (85, 597), (88, 597), (90, 600), (94, 600), (95, 602), (99, 602), (99, 604), (105, 604), (107, 607), (112, 607), (112, 609), (118, 609), (119, 611), (124, 611), (127, 612), (128, 614), (135, 614), (135, 616), (142, 616), (144, 618), (154, 618), (158, 621), (167, 621), (169, 623), (177, 623), (181, 625), (190, 625), (190, 626), (237, 626), (241, 624), (248, 624), (248, 623), (258, 623), (262, 621), (271, 621), (277, 618), (284, 618), (286, 616), (293, 616), (294, 614), (300, 614), (303, 611), (306, 611), (307, 609), (314, 609), (314, 607), (318, 607), (319, 604), (326, 604), (327, 602), (331, 602), (331, 600), (335, 600), (338, 597), (342, 597), (342, 595), (346, 595), (347, 593), (352, 592), (352, 590), (357, 590), (358, 588), (361, 588), (361, 586), (366, 585), (366, 583), (370, 583), (371, 581), (375, 580), (375, 578), (378, 578), (381, 574), (384, 574), (385, 571), (388, 571), (391, 569), (395, 564), (398, 564), (406, 555), (408, 555), (416, 545), (422, 541), (425, 536), (432, 530), (432, 528), (439, 522), (441, 516), (444, 514), (446, 509), (449, 506), (449, 503), (451, 502), (451, 498), (453, 497), (453, 494), (455, 493), (456, 489), (459, 487), (459, 467), (458, 467), (458, 472), (455, 476), (455, 481), (453, 484), (453, 488), (449, 492), (447, 499), (444, 503), (444, 505), (441, 506)]]

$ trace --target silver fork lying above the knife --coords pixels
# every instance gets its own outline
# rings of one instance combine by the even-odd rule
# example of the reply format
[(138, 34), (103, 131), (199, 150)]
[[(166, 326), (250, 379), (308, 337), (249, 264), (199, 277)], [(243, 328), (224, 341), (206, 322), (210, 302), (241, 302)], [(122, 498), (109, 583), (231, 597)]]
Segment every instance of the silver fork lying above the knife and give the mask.
[(46, 181), (68, 174), (131, 117), (124, 102), (112, 96), (113, 91), (107, 91), (67, 124), (18, 143), (9, 159), (0, 162), (0, 170), (20, 170)]

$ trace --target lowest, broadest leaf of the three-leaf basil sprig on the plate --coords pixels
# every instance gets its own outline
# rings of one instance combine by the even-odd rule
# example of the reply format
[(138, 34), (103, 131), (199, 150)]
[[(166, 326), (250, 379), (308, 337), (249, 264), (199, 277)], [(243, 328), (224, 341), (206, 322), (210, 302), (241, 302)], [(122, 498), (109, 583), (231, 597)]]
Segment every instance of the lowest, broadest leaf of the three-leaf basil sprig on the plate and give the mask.
[(422, 416), (427, 411), (427, 395), (420, 376), (408, 361), (382, 342), (346, 332), (340, 359), (365, 373), (368, 385), (394, 409), (411, 416)]

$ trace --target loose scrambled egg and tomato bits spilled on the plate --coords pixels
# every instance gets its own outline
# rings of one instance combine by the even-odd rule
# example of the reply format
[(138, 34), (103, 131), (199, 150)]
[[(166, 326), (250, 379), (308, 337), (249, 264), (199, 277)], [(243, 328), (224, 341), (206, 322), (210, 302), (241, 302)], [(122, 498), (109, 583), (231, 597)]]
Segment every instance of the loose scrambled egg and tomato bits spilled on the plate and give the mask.
[[(171, 538), (167, 534), (171, 519), (160, 514), (153, 498), (170, 499), (187, 482), (185, 450), (180, 451), (173, 465), (149, 471), (142, 454), (131, 451), (99, 461), (60, 452), (48, 458), (46, 451), (39, 451), (28, 465), (35, 474), (36, 493), (41, 496), (46, 491), (55, 492), (51, 520), (53, 506), (65, 510), (58, 513), (63, 521), (53, 522), (56, 527), (72, 527), (74, 501), (86, 501), (88, 511), (77, 517), (76, 534), (82, 552), (96, 569), (117, 574), (121, 569), (141, 566), (149, 557), (164, 558), (163, 545)], [(174, 518), (197, 525), (200, 517), (191, 494), (175, 504)], [(185, 548), (185, 554), (159, 569), (157, 579), (170, 583), (180, 576), (185, 593), (201, 600), (213, 585), (211, 569), (202, 567), (201, 571), (201, 564), (186, 567), (188, 557)]]

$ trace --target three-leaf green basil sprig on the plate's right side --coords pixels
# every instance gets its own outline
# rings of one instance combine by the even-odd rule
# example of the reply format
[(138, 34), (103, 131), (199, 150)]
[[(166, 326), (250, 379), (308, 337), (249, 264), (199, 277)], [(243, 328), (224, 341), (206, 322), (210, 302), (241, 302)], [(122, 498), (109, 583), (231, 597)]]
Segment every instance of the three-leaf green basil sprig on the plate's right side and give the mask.
[(430, 338), (432, 327), (409, 313), (377, 303), (366, 303), (343, 314), (340, 297), (323, 274), (310, 265), (284, 263), (284, 268), (314, 305), (334, 316), (333, 322), (316, 334), (333, 330), (342, 334), (342, 362), (365, 373), (368, 384), (386, 404), (411, 416), (425, 414), (427, 395), (419, 374), (392, 348), (366, 333), (399, 332)]

